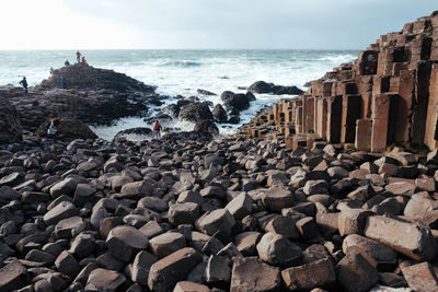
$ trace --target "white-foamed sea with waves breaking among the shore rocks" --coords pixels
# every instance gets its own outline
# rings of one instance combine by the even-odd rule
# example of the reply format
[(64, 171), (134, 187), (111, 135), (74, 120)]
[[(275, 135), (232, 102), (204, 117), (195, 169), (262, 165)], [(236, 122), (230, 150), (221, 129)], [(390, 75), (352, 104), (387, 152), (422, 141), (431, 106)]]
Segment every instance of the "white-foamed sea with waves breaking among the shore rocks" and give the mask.
[[(278, 85), (296, 85), (321, 78), (343, 62), (354, 60), (358, 50), (80, 50), (89, 65), (117, 72), (157, 86), (157, 93), (170, 97), (198, 96), (215, 105), (221, 103), (223, 91), (244, 92), (258, 80)], [(76, 61), (76, 50), (0, 50), (0, 85), (19, 85), (25, 75), (30, 85), (37, 85), (50, 75), (50, 68)], [(208, 90), (217, 96), (199, 95), (196, 90)], [(218, 125), (221, 135), (230, 135), (250, 121), (264, 106), (291, 97), (288, 95), (256, 94), (256, 101), (241, 113), (239, 125)], [(175, 101), (169, 98), (168, 104)], [(151, 108), (152, 113), (158, 108)], [(212, 109), (212, 108), (211, 108)], [(111, 127), (92, 127), (97, 136), (111, 140), (119, 130), (151, 127), (143, 118), (128, 117)], [(173, 121), (163, 127), (192, 130), (193, 124)]]

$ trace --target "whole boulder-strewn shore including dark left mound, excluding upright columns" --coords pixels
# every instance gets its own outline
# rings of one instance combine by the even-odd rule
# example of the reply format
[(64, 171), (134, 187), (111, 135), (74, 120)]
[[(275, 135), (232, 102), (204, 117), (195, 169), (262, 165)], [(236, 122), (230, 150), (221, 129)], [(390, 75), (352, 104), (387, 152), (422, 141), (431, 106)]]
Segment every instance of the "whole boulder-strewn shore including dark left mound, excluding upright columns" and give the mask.
[(195, 130), (134, 142), (148, 129), (105, 141), (83, 124), (161, 104), (124, 74), (76, 65), (27, 97), (0, 89), (0, 292), (437, 291), (437, 149), (291, 141), (278, 106), (212, 139), (253, 92), (296, 90), (256, 82), (212, 112), (178, 97), (159, 115)]

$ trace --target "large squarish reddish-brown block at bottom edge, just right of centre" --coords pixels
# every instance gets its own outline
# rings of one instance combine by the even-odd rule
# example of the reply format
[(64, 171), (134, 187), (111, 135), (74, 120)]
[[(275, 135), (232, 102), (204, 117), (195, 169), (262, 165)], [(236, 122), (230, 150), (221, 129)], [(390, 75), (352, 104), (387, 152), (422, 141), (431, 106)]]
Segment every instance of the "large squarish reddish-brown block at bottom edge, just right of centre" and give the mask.
[(257, 257), (234, 259), (230, 292), (274, 292), (280, 288), (281, 278), (278, 268), (263, 262)]

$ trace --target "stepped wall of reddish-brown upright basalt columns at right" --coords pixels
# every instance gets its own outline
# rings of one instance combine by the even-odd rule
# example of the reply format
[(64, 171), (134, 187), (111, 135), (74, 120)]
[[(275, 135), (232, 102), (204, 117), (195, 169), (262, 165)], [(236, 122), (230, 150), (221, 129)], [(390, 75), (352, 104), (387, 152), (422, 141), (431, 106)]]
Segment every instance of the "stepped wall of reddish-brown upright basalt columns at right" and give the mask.
[(438, 13), (433, 13), (381, 36), (298, 98), (274, 104), (247, 132), (285, 136), (290, 148), (321, 138), (372, 152), (404, 142), (436, 149), (437, 118)]

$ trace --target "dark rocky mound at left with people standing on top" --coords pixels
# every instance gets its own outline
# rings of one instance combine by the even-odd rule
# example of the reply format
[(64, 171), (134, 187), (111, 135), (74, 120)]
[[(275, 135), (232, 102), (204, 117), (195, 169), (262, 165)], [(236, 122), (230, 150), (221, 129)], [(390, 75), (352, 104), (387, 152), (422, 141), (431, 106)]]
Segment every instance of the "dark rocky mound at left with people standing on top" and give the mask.
[[(60, 84), (67, 78), (67, 89)], [(149, 102), (164, 98), (154, 87), (112, 70), (78, 63), (54, 70), (39, 86), (30, 87), (24, 95), (21, 87), (3, 86), (0, 97), (8, 98), (16, 108), (25, 130), (35, 131), (48, 117), (70, 117), (91, 125), (111, 125), (127, 116), (146, 116)]]

